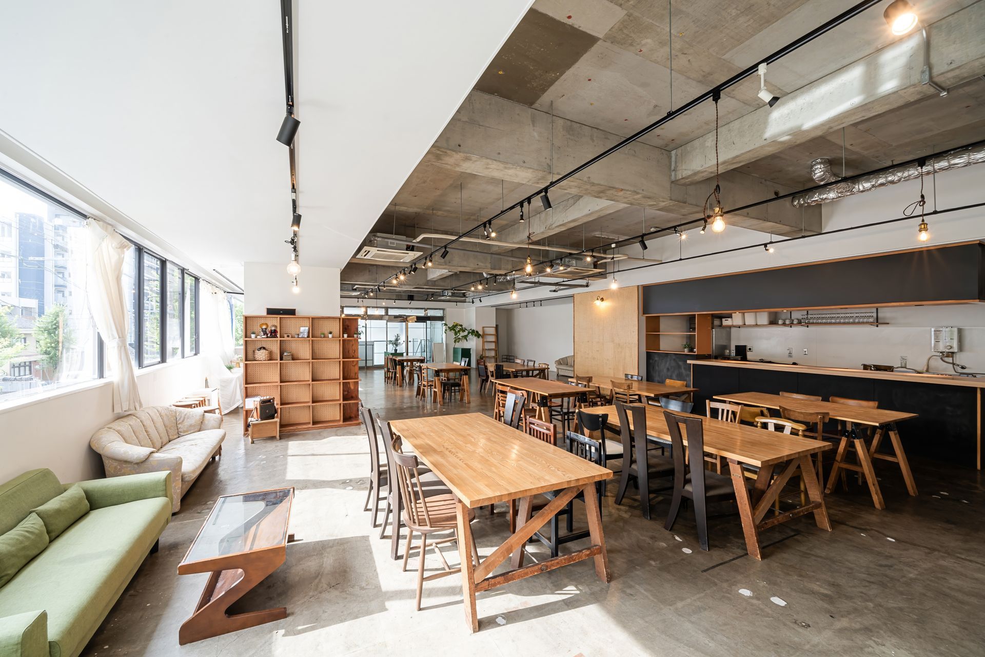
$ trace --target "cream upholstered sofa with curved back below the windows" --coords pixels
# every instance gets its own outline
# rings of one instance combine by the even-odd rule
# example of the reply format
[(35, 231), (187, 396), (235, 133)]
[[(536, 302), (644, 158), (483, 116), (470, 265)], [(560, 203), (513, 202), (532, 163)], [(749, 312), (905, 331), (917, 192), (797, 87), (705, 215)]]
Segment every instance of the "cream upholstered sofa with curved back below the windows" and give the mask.
[(89, 444), (102, 456), (106, 477), (143, 472), (171, 473), (171, 512), (181, 496), (223, 451), (221, 416), (195, 409), (149, 406), (100, 428)]

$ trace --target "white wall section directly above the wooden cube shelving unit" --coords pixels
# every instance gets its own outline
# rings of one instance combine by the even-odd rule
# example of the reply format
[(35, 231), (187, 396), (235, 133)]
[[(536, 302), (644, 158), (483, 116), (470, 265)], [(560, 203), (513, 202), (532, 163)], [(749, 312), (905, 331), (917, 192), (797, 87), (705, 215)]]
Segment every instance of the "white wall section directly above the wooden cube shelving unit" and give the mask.
[(247, 315), (262, 315), (267, 308), (296, 308), (299, 315), (339, 314), (339, 270), (334, 267), (301, 265), (297, 287), (292, 292), (288, 263), (247, 262), (243, 266), (243, 302)]

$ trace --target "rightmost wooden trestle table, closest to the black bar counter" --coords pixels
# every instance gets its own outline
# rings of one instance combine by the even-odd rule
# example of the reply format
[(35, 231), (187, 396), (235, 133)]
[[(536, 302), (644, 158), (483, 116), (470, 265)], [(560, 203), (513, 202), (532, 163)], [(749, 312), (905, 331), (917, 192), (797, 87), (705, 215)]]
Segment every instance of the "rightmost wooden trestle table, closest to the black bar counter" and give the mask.
[[(834, 490), (837, 483), (838, 471), (841, 469), (851, 470), (861, 473), (869, 485), (869, 493), (872, 493), (872, 501), (878, 509), (886, 508), (886, 501), (883, 499), (883, 492), (879, 488), (879, 479), (876, 477), (876, 470), (873, 467), (873, 459), (883, 459), (899, 464), (899, 470), (903, 474), (903, 481), (906, 482), (906, 490), (911, 495), (917, 494), (917, 485), (910, 472), (910, 464), (906, 460), (906, 452), (903, 451), (903, 443), (899, 440), (899, 431), (896, 428), (897, 422), (916, 418), (915, 413), (903, 413), (901, 411), (889, 411), (886, 409), (867, 409), (861, 406), (851, 406), (849, 404), (836, 404), (834, 402), (818, 402), (810, 399), (797, 399), (796, 397), (784, 397), (783, 395), (772, 395), (764, 392), (737, 392), (728, 395), (715, 395), (715, 399), (721, 399), (732, 404), (742, 404), (743, 406), (759, 406), (766, 409), (784, 408), (794, 411), (804, 411), (806, 413), (826, 413), (831, 420), (840, 420), (846, 423), (845, 431), (841, 435), (838, 444), (838, 451), (834, 456), (834, 463), (831, 472), (827, 476), (827, 486), (825, 493)], [(859, 426), (873, 427), (872, 444), (865, 444), (865, 436), (859, 432)], [(880, 443), (883, 437), (889, 434), (892, 443), (893, 454), (882, 454), (879, 452)], [(858, 455), (858, 464), (846, 462), (848, 455), (848, 442), (851, 441)]]

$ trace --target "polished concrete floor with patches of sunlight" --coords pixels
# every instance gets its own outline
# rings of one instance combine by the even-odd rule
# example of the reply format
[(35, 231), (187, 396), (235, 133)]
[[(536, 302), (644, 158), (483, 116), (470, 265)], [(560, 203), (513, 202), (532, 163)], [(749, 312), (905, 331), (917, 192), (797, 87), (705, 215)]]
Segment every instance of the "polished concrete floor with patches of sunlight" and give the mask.
[[(470, 405), (438, 411), (411, 388), (385, 386), (378, 371), (364, 376), (361, 394), (386, 420), (492, 410), (491, 396), (473, 390)], [(600, 582), (586, 561), (479, 594), (480, 631), (470, 634), (458, 576), (426, 582), (424, 609), (415, 611), (414, 558), (402, 572), (389, 541), (370, 527), (361, 427), (251, 445), (240, 422), (227, 416), (222, 458), (185, 496), (161, 551), (147, 558), (84, 654), (985, 654), (985, 495), (975, 471), (917, 461), (920, 496), (910, 497), (884, 463), (886, 510), (858, 488), (833, 493), (832, 532), (810, 515), (770, 529), (762, 561), (746, 556), (728, 505), (709, 521), (711, 550), (702, 552), (688, 512), (667, 532), (666, 499), (647, 521), (638, 497), (616, 506), (610, 487), (603, 522), (612, 582)], [(179, 646), (178, 627), (207, 575), (178, 576), (176, 567), (216, 497), (284, 486), (296, 488), (291, 526), (300, 541), (240, 607), (286, 605), (287, 620)], [(473, 526), (484, 556), (507, 535), (501, 512), (482, 512)], [(539, 546), (531, 552), (543, 554)], [(457, 562), (453, 546), (446, 555)], [(433, 553), (427, 568), (440, 568)]]

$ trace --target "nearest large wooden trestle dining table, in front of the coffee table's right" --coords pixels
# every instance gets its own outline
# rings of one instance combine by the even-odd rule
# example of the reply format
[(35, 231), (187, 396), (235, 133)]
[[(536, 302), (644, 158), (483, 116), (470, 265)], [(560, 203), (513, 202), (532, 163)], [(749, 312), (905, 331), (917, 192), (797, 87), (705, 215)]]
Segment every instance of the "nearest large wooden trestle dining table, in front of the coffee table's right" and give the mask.
[[(594, 559), (599, 579), (607, 583), (612, 579), (595, 488), (596, 482), (613, 476), (611, 470), (480, 413), (395, 420), (390, 427), (458, 497), (458, 554), (465, 621), (470, 631), (479, 629), (478, 592), (587, 558)], [(531, 517), (533, 496), (548, 492), (555, 492), (555, 497)], [(571, 554), (523, 565), (527, 541), (578, 493), (583, 493), (585, 499), (590, 545)], [(478, 565), (473, 564), (475, 539), (469, 509), (510, 499), (520, 500), (520, 520), (529, 519), (491, 555)], [(511, 569), (493, 575), (493, 570), (510, 555)]]

